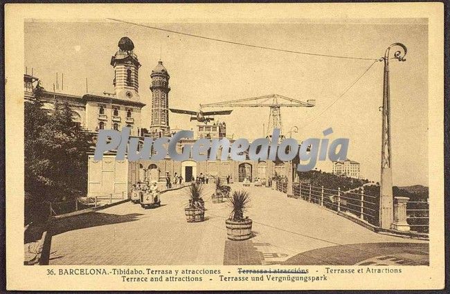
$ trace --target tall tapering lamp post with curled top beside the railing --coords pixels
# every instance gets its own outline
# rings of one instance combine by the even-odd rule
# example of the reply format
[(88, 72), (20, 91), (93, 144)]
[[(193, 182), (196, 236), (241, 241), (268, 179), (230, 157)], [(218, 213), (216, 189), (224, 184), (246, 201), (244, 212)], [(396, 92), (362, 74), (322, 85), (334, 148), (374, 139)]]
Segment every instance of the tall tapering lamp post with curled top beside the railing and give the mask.
[[(390, 49), (397, 47), (399, 50), (391, 56)], [(384, 57), (384, 80), (383, 80), (383, 125), (381, 131), (381, 181), (379, 190), (379, 226), (390, 229), (393, 223), (393, 182), (392, 182), (392, 156), (390, 152), (390, 91), (389, 91), (389, 60), (397, 59), (404, 62), (406, 46), (401, 43), (391, 44), (386, 48)]]

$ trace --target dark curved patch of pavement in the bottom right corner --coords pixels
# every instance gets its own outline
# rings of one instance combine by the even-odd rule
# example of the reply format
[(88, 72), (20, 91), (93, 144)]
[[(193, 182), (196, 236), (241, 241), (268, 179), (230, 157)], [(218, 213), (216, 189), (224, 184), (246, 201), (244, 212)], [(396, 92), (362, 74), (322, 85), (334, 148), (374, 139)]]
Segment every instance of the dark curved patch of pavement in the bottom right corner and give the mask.
[(282, 265), (427, 266), (429, 244), (367, 243), (309, 250), (287, 259)]

